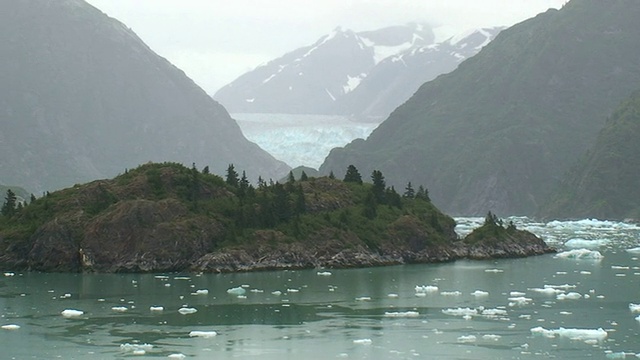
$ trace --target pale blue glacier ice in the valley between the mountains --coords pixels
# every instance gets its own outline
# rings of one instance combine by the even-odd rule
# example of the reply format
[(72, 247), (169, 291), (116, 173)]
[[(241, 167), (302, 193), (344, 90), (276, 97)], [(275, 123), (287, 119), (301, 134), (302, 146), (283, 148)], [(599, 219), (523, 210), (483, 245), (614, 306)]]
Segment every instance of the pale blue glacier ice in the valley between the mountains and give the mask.
[(329, 151), (367, 138), (378, 123), (347, 116), (299, 114), (232, 114), (244, 136), (291, 167), (317, 169)]

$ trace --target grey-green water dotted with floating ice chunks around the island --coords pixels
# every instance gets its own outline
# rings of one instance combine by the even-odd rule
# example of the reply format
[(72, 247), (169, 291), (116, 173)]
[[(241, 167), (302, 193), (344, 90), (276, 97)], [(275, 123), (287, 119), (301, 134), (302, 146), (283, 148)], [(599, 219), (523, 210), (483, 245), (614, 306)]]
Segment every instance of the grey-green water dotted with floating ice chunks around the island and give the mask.
[[(457, 220), (461, 233), (482, 221)], [(0, 325), (19, 328), (0, 330), (2, 358), (602, 359), (640, 353), (640, 312), (629, 307), (640, 303), (640, 254), (627, 251), (640, 246), (640, 227), (514, 220), (562, 250), (578, 240), (569, 245), (583, 246), (581, 254), (592, 258), (224, 275), (5, 269)], [(233, 288), (244, 295), (227, 292)], [(180, 308), (197, 312), (182, 315)], [(65, 309), (83, 314), (66, 318)], [(582, 338), (571, 339), (576, 336)]]

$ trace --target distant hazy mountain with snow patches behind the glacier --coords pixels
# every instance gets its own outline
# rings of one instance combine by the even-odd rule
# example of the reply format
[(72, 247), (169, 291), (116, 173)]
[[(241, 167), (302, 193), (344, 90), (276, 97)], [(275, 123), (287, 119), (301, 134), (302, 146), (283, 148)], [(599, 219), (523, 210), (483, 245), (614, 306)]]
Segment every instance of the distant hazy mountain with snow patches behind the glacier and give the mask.
[(422, 83), (475, 55), (500, 30), (435, 43), (433, 29), (422, 24), (358, 33), (337, 28), (240, 76), (214, 98), (239, 113), (382, 118)]

